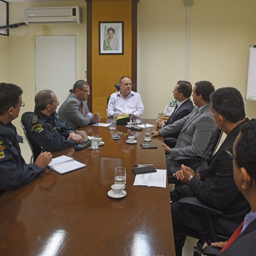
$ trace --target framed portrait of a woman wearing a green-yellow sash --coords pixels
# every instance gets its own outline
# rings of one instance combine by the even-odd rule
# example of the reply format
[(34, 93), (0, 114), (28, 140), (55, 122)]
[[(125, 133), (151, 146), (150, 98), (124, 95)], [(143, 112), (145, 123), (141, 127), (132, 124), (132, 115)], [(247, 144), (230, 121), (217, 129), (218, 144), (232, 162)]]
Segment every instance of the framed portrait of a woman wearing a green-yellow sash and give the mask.
[(124, 22), (99, 21), (99, 54), (124, 54)]

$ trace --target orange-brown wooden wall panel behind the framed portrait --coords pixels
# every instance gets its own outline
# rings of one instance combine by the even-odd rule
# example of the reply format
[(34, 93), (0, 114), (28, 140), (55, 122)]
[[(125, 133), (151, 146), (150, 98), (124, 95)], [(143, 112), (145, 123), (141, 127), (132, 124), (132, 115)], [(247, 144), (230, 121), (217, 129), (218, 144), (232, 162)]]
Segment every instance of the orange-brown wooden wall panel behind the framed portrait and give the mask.
[[(91, 6), (92, 71), (91, 79), (87, 73), (87, 81), (91, 83), (92, 88), (92, 112), (98, 112), (103, 118), (107, 117), (107, 97), (116, 92), (114, 84), (118, 83), (123, 75), (131, 77), (132, 0), (92, 0)], [(124, 21), (124, 55), (98, 54), (99, 21)]]

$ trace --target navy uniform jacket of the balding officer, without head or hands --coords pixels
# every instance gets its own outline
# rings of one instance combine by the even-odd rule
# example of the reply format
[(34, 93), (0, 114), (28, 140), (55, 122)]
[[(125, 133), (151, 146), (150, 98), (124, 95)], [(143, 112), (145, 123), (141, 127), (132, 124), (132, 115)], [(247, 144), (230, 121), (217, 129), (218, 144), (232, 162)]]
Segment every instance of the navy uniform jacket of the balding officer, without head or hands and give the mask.
[(37, 108), (27, 123), (27, 133), (43, 151), (54, 152), (73, 146), (75, 142), (68, 139), (74, 131), (68, 123), (61, 121), (56, 112), (47, 116)]

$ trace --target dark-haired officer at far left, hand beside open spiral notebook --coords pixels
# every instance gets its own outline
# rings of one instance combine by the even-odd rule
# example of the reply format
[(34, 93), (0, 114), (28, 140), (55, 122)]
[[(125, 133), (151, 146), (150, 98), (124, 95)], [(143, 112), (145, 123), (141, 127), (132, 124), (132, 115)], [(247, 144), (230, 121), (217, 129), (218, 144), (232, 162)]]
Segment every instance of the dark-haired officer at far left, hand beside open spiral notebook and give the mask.
[(24, 107), (21, 87), (12, 83), (0, 83), (0, 195), (20, 188), (35, 179), (51, 162), (50, 152), (44, 152), (35, 164), (26, 164), (21, 156), (19, 143), (23, 139), (16, 132), (12, 120)]

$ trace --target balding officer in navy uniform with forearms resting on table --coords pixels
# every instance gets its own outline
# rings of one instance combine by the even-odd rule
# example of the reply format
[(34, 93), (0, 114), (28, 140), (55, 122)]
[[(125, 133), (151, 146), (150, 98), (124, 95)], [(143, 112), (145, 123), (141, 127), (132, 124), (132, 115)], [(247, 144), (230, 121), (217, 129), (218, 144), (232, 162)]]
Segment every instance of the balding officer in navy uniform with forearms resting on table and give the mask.
[(56, 113), (59, 101), (51, 90), (35, 96), (35, 110), (27, 124), (27, 134), (42, 151), (58, 151), (83, 141), (83, 137), (63, 122)]

